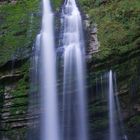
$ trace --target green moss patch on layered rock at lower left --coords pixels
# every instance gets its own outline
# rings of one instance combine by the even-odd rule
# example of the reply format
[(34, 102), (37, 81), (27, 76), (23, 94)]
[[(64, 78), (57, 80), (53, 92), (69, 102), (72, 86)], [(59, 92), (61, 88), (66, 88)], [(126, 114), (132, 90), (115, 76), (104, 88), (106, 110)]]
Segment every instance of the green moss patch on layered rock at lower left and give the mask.
[(19, 71), (23, 74), (23, 78), (17, 82), (15, 89), (11, 93), (12, 97), (14, 97), (11, 100), (13, 107), (11, 107), (10, 112), (12, 115), (27, 111), (27, 96), (29, 93), (29, 67), (30, 62), (27, 61), (19, 69)]

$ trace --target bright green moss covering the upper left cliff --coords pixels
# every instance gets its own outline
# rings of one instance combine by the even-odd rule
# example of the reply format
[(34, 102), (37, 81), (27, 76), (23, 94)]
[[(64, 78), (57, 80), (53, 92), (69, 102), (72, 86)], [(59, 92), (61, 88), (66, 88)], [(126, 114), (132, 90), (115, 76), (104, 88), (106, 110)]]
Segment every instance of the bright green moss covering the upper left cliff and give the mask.
[(0, 6), (0, 64), (11, 59), (17, 48), (31, 46), (39, 27), (38, 5), (39, 0), (23, 0)]

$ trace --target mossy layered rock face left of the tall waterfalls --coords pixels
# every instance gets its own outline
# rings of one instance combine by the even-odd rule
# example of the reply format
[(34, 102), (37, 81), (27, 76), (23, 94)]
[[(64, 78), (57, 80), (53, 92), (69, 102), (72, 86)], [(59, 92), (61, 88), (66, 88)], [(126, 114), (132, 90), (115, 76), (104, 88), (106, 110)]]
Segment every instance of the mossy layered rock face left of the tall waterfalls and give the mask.
[(32, 46), (39, 1), (0, 1), (0, 140), (25, 140)]

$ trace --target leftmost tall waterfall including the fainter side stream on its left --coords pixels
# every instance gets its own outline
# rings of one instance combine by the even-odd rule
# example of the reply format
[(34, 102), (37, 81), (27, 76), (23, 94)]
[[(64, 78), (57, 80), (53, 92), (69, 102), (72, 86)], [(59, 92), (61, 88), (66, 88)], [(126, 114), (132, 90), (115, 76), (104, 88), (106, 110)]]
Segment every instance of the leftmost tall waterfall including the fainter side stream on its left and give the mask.
[[(56, 55), (54, 43), (53, 12), (49, 0), (43, 0), (42, 28), (37, 35), (32, 60), (31, 84), (36, 91), (32, 91), (31, 106), (40, 104), (39, 126), (32, 130), (31, 139), (60, 140), (59, 117), (56, 88)], [(39, 87), (39, 89), (38, 89)], [(35, 94), (35, 92), (38, 92)], [(37, 99), (38, 98), (38, 99)], [(35, 115), (30, 107), (30, 114)], [(35, 109), (36, 112), (36, 109)], [(40, 132), (38, 132), (40, 130)], [(37, 133), (37, 134), (36, 134)], [(35, 136), (34, 136), (35, 135)]]

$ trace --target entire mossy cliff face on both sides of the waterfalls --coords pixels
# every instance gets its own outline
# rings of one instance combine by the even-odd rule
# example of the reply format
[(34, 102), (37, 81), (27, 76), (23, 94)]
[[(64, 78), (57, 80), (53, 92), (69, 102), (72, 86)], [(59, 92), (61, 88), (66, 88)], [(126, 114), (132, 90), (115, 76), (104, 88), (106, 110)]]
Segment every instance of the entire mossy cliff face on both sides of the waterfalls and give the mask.
[[(95, 140), (101, 140), (107, 134), (107, 101), (98, 98), (96, 92), (101, 92), (100, 74), (112, 69), (117, 75), (118, 97), (129, 140), (140, 140), (140, 24), (137, 6), (140, 2), (85, 2), (79, 1), (86, 14), (84, 23), (88, 34), (90, 131)], [(38, 113), (28, 114), (28, 104), (29, 59), (41, 15), (38, 5), (39, 1), (35, 0), (0, 0), (0, 140), (26, 140), (28, 126), (34, 127), (37, 123)], [(63, 48), (59, 52), (62, 54)], [(36, 123), (32, 125), (29, 120)]]

